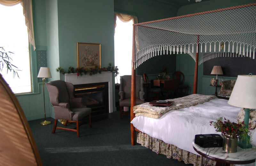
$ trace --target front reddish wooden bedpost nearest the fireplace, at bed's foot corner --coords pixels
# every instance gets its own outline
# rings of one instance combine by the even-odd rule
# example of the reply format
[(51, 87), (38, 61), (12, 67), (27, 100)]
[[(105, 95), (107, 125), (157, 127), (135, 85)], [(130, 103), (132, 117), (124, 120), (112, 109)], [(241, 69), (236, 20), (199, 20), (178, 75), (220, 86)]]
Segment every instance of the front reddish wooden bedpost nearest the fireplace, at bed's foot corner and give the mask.
[[(131, 82), (131, 121), (135, 117), (133, 113), (133, 106), (136, 105), (136, 64), (135, 64), (135, 26), (133, 26), (133, 35), (132, 35), (132, 82)], [(136, 131), (133, 124), (131, 124), (131, 141), (132, 145), (135, 145), (136, 140)]]

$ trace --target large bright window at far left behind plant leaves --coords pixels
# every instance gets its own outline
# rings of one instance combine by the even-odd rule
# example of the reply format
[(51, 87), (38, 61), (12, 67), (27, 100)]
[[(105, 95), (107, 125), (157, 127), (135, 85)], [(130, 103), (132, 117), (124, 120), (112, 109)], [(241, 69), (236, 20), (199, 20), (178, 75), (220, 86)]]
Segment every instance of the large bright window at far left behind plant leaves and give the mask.
[(4, 6), (0, 4), (0, 15), (2, 25), (0, 26), (0, 47), (12, 58), (11, 63), (18, 67), (17, 75), (13, 78), (13, 73), (3, 68), (1, 74), (9, 84), (12, 92), (15, 94), (32, 92), (31, 65), (30, 65), (30, 47), (28, 39), (28, 30), (23, 16), (23, 7), (21, 4), (14, 6)]

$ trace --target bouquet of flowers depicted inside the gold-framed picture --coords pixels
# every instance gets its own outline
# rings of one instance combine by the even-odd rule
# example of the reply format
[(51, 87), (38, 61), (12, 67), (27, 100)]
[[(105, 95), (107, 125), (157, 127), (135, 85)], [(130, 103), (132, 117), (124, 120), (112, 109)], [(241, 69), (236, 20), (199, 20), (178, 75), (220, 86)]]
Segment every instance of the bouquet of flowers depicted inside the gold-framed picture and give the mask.
[(85, 47), (83, 56), (80, 57), (84, 66), (92, 66), (98, 61), (99, 54), (96, 53), (93, 49)]

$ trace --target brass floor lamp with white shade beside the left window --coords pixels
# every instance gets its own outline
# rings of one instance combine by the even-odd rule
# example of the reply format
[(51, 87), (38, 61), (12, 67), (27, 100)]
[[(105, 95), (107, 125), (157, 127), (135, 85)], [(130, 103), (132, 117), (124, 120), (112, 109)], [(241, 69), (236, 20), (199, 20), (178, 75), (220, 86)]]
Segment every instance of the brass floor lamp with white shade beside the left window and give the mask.
[[(49, 67), (41, 67), (38, 73), (38, 78), (43, 78), (43, 91), (44, 91), (44, 80), (45, 78), (52, 78), (51, 72)], [(41, 122), (41, 125), (48, 125), (52, 122), (46, 121), (46, 114), (45, 114), (45, 101), (44, 101), (44, 122)]]

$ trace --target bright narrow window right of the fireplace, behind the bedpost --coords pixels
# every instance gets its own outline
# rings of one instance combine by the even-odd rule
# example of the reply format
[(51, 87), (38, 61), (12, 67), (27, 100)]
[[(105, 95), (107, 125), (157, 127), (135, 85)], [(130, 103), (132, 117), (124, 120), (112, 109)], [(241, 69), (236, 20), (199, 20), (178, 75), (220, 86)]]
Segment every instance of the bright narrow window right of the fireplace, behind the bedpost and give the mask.
[(132, 24), (122, 22), (118, 17), (115, 28), (115, 66), (119, 74), (115, 83), (120, 83), (120, 76), (132, 74)]

